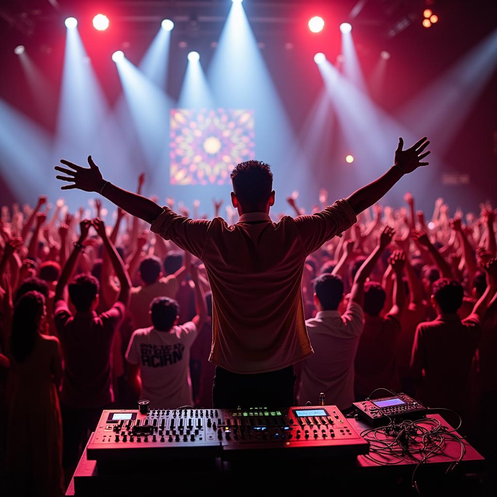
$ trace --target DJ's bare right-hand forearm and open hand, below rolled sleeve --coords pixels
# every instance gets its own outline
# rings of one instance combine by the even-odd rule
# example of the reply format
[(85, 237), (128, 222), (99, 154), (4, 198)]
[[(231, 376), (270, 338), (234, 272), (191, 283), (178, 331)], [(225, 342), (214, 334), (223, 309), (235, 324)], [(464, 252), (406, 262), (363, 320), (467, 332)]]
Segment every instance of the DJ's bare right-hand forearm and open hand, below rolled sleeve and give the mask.
[(427, 166), (427, 162), (420, 161), (430, 153), (429, 151), (423, 153), (429, 143), (426, 141), (426, 137), (424, 137), (410, 149), (402, 150), (404, 140), (399, 138), (399, 146), (395, 151), (394, 165), (383, 176), (359, 188), (347, 198), (354, 213), (359, 214), (359, 212), (378, 202), (404, 174), (413, 172), (419, 166)]

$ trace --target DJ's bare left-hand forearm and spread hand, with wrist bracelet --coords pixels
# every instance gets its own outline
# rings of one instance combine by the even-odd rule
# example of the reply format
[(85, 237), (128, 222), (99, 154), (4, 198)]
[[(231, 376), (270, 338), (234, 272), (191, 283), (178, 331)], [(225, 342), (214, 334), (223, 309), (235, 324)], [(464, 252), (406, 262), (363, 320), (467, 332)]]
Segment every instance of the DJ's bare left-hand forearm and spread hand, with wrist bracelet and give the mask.
[(152, 200), (142, 197), (142, 195), (138, 195), (137, 193), (123, 190), (122, 188), (113, 185), (110, 181), (103, 179), (100, 170), (91, 159), (91, 156), (88, 156), (89, 168), (81, 167), (65, 160), (61, 160), (61, 163), (70, 167), (70, 169), (55, 166), (57, 171), (66, 174), (66, 176), (56, 176), (57, 179), (74, 183), (63, 186), (61, 190), (78, 188), (83, 191), (94, 191), (109, 199), (111, 202), (121, 207), (121, 209), (129, 212), (132, 216), (143, 219), (150, 224), (152, 224), (163, 211), (162, 207)]

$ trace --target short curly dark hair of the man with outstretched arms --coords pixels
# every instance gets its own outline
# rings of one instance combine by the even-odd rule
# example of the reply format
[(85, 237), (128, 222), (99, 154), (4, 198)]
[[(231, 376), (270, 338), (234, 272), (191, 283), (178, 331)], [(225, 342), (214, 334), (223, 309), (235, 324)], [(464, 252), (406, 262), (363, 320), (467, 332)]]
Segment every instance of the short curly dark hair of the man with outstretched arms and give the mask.
[(246, 161), (231, 171), (233, 191), (244, 207), (260, 207), (271, 195), (273, 173), (261, 161)]

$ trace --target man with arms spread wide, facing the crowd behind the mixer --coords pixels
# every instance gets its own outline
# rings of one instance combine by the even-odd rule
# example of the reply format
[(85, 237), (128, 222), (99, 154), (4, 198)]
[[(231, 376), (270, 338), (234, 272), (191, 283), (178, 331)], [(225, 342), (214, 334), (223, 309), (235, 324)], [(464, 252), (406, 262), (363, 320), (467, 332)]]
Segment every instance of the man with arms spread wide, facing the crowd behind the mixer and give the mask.
[(89, 168), (62, 160), (57, 176), (96, 192), (132, 216), (150, 223), (151, 230), (188, 250), (205, 264), (212, 290), (213, 343), (216, 364), (214, 407), (290, 406), (293, 404), (293, 364), (313, 353), (306, 331), (300, 282), (310, 253), (356, 222), (356, 215), (376, 203), (397, 181), (419, 166), (429, 152), (422, 138), (402, 150), (385, 174), (321, 212), (279, 223), (269, 217), (274, 204), (273, 175), (268, 165), (248, 161), (233, 169), (231, 200), (238, 223), (221, 218), (192, 220), (141, 195), (103, 179), (91, 156)]

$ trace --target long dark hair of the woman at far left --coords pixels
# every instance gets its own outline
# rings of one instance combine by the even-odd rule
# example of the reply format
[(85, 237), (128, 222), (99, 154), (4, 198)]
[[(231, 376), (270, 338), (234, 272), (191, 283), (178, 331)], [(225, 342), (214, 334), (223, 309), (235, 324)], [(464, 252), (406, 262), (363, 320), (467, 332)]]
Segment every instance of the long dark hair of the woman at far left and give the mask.
[(33, 351), (36, 336), (45, 320), (45, 297), (28, 291), (15, 304), (10, 335), (10, 351), (17, 362), (25, 360)]

